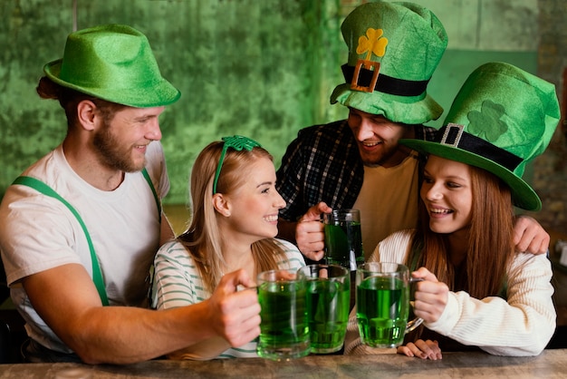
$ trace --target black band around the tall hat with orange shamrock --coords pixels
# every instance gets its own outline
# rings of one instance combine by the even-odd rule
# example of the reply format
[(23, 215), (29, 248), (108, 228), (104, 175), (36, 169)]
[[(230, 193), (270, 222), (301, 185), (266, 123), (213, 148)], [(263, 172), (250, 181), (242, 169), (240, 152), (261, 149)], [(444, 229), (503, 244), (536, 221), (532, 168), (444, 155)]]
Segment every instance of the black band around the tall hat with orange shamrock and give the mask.
[[(357, 64), (357, 66), (359, 64)], [(358, 67), (353, 67), (349, 64), (343, 64), (341, 66), (342, 75), (347, 83), (352, 83), (352, 76), (354, 75), (355, 69), (358, 69)], [(375, 79), (376, 85), (374, 85), (374, 88), (370, 89), (370, 83), (372, 83), (373, 76), (376, 74), (375, 70), (360, 67), (359, 77), (356, 81), (357, 85), (369, 89), (365, 92), (373, 92), (376, 90), (397, 96), (418, 96), (428, 89), (429, 80), (407, 81), (404, 79), (392, 78), (391, 76), (384, 75), (383, 73), (378, 74), (378, 78)]]

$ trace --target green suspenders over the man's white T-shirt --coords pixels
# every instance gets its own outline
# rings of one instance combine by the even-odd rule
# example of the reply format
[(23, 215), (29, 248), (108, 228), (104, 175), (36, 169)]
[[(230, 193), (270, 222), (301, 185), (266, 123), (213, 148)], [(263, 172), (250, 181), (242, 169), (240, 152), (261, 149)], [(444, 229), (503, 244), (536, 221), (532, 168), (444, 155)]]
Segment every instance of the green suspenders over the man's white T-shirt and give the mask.
[[(159, 211), (159, 223), (161, 223), (161, 203), (159, 201), (158, 193), (156, 192), (156, 189), (154, 189), (154, 186), (151, 183), (151, 179), (149, 178), (148, 171), (145, 168), (142, 170), (142, 174), (144, 175), (144, 178), (148, 181), (149, 188), (151, 189), (151, 192), (154, 195), (154, 199), (156, 200), (156, 204), (158, 206), (158, 211)], [(84, 222), (82, 221), (79, 212), (77, 212), (77, 210), (75, 210), (67, 200), (63, 199), (57, 192), (55, 192), (51, 187), (43, 183), (43, 181), (41, 180), (37, 180), (35, 178), (28, 176), (20, 176), (16, 178), (14, 180), (14, 183), (12, 184), (21, 184), (24, 186), (31, 187), (34, 190), (38, 190), (39, 192), (42, 192), (43, 195), (51, 196), (54, 199), (60, 200), (69, 210), (71, 210), (71, 213), (74, 215), (77, 221), (79, 221), (79, 224), (81, 224), (82, 231), (84, 232), (84, 235), (87, 238), (87, 243), (89, 244), (89, 250), (91, 250), (92, 281), (94, 282), (94, 286), (97, 288), (97, 291), (99, 292), (99, 296), (101, 296), (102, 305), (108, 306), (109, 299), (108, 296), (106, 295), (106, 289), (104, 288), (104, 280), (102, 280), (101, 266), (99, 265), (99, 260), (94, 251), (94, 247), (92, 246), (91, 235), (89, 234), (87, 227), (84, 225)]]

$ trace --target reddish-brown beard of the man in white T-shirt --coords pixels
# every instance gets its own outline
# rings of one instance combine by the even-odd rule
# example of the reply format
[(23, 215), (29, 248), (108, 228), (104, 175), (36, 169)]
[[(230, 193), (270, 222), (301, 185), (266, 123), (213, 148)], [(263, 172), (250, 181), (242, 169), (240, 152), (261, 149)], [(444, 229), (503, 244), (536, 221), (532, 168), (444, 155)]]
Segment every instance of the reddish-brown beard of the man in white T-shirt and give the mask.
[(136, 172), (146, 165), (146, 160), (138, 164), (131, 159), (131, 148), (120, 145), (111, 132), (110, 122), (103, 121), (101, 130), (94, 135), (92, 144), (99, 152), (101, 163), (113, 170)]

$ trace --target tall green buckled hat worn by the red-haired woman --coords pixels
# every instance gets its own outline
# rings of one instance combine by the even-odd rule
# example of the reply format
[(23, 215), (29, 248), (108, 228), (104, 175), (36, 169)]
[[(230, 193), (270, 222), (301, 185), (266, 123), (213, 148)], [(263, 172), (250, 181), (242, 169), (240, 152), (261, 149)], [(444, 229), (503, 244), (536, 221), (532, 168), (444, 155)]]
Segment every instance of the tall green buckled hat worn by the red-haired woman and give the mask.
[(492, 172), (510, 187), (516, 207), (540, 210), (542, 201), (522, 176), (560, 117), (552, 83), (508, 63), (485, 63), (456, 94), (436, 141), (399, 143)]

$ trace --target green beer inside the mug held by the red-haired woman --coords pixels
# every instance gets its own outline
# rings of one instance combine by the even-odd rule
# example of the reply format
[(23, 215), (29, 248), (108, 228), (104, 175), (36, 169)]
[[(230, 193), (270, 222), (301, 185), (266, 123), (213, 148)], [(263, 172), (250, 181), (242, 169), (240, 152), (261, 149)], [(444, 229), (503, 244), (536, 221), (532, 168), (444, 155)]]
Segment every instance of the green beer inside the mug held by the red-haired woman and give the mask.
[(363, 344), (395, 347), (408, 322), (408, 286), (399, 278), (366, 277), (356, 288), (356, 318)]

